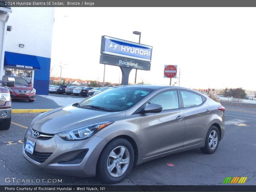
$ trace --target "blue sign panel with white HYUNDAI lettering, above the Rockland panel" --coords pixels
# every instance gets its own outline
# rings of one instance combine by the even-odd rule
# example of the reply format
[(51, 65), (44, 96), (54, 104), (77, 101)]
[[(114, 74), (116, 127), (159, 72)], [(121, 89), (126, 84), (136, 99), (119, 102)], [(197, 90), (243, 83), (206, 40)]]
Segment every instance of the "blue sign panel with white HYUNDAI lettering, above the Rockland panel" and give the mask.
[(104, 54), (116, 55), (143, 61), (151, 61), (152, 46), (138, 44), (113, 37), (102, 36)]

